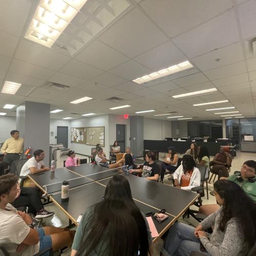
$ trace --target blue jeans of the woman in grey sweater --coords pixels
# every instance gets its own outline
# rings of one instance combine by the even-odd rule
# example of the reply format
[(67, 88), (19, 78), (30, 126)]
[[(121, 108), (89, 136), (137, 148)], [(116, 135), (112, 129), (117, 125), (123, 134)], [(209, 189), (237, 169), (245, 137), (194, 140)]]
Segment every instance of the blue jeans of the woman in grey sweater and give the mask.
[(190, 256), (191, 251), (210, 256), (208, 252), (200, 251), (200, 239), (195, 237), (194, 231), (194, 227), (176, 222), (170, 227), (161, 251), (165, 256)]

